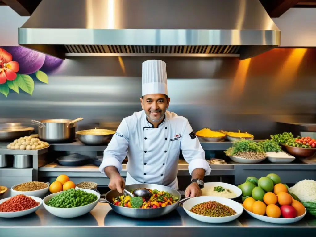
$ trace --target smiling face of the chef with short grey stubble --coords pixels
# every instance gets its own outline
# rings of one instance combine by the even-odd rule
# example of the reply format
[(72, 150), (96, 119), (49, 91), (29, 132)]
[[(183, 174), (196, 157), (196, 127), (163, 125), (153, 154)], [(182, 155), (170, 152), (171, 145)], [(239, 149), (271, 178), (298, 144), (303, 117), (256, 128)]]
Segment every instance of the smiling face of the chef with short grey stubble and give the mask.
[(152, 122), (160, 122), (169, 107), (170, 98), (165, 94), (146, 94), (140, 98), (147, 118)]

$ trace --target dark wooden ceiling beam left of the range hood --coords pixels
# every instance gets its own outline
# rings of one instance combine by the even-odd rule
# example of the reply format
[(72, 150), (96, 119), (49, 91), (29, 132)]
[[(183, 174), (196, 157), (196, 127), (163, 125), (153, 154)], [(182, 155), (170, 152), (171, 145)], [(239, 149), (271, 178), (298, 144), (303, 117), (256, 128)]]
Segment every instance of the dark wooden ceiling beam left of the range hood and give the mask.
[(42, 0), (2, 0), (21, 16), (30, 16)]

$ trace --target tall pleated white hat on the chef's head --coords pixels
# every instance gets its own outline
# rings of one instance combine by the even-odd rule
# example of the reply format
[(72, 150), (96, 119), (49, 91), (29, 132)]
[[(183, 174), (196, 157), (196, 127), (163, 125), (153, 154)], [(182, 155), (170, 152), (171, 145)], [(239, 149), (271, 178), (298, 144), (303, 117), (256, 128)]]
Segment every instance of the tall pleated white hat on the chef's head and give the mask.
[(168, 95), (165, 62), (161, 60), (143, 62), (143, 96), (146, 94)]

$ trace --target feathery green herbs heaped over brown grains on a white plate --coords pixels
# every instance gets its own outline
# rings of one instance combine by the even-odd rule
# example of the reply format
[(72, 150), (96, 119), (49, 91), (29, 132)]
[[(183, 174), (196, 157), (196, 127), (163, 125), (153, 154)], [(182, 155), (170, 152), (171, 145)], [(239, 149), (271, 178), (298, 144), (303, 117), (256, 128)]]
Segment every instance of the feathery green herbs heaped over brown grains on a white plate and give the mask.
[(233, 146), (228, 148), (225, 152), (226, 155), (235, 155), (238, 152), (264, 152), (261, 146), (252, 140), (238, 140), (233, 142)]

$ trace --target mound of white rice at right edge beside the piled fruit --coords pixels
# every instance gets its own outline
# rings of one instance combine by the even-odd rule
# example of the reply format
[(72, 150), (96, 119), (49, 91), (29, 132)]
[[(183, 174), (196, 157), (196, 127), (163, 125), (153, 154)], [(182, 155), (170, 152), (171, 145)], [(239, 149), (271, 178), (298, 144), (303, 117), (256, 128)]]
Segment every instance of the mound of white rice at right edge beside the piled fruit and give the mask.
[(304, 179), (289, 188), (302, 202), (316, 202), (316, 181)]

